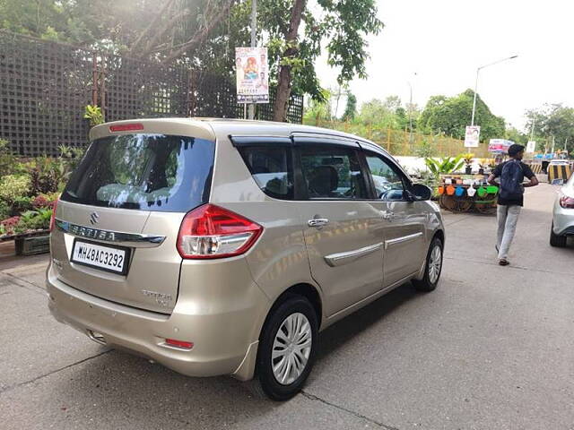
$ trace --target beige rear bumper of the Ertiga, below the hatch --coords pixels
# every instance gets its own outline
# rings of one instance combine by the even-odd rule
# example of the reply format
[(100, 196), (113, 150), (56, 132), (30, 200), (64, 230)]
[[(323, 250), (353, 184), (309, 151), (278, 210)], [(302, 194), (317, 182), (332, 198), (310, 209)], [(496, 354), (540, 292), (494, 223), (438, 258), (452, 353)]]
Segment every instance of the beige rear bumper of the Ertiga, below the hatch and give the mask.
[[(156, 314), (119, 305), (86, 294), (60, 280), (50, 267), (48, 307), (57, 321), (90, 336), (100, 333), (105, 344), (151, 358), (189, 376), (231, 374), (240, 380), (253, 376), (262, 308), (268, 301), (259, 288), (248, 288), (250, 306), (222, 309), (212, 304), (178, 300), (173, 313)], [(181, 297), (180, 297), (181, 298)], [(245, 303), (245, 301), (242, 301)], [(165, 344), (166, 339), (194, 342), (185, 350)]]

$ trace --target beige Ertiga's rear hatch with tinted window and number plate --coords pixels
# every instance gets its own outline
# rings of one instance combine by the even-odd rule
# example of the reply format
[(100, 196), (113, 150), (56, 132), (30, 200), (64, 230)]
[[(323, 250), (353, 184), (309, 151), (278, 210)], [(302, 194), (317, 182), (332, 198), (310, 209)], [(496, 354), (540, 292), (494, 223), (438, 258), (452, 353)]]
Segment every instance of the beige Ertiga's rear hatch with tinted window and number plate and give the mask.
[(51, 252), (59, 280), (170, 314), (181, 266), (178, 229), (187, 211), (208, 201), (213, 171), (213, 137), (189, 124), (175, 127), (177, 134), (161, 120), (92, 133), (57, 204)]

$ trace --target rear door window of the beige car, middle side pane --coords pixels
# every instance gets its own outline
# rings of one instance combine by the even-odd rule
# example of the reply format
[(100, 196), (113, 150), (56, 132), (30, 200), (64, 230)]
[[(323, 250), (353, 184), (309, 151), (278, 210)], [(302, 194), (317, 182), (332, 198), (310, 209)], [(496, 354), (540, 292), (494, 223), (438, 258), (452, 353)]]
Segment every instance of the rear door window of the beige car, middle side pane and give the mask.
[(301, 172), (309, 199), (368, 199), (357, 152), (335, 146), (300, 148)]

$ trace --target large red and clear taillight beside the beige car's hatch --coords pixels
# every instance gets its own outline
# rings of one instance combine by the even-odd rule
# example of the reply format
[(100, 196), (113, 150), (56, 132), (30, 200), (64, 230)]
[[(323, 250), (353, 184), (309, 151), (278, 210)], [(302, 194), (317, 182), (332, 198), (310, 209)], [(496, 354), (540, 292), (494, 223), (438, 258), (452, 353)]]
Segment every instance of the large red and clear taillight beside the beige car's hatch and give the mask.
[(263, 227), (235, 212), (204, 204), (187, 213), (178, 234), (183, 258), (222, 258), (243, 254), (261, 235)]

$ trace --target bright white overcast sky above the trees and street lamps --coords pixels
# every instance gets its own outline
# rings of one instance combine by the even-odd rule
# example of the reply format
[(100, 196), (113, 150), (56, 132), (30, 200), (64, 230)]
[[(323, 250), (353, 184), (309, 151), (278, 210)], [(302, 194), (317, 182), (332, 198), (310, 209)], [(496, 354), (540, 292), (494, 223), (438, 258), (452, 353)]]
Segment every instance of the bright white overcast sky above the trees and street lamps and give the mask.
[[(385, 28), (368, 39), (368, 79), (350, 89), (359, 106), (395, 94), (408, 102), (411, 82), (413, 102), (424, 107), (432, 95), (474, 89), (477, 67), (517, 55), (481, 70), (478, 93), (523, 129), (528, 108), (574, 106), (573, 13), (570, 0), (378, 0)], [(325, 57), (317, 72), (324, 87), (336, 87)]]

